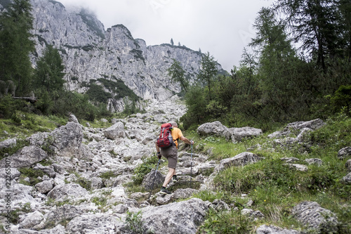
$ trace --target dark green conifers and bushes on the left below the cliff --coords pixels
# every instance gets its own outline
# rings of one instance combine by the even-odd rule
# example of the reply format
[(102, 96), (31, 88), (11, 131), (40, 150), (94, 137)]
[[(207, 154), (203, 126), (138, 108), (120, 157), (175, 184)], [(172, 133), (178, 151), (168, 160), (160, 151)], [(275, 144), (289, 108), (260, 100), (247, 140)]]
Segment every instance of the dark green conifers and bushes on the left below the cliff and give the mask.
[[(18, 117), (18, 112), (60, 118), (73, 113), (78, 119), (90, 121), (96, 117), (110, 116), (104, 96), (98, 96), (98, 103), (93, 105), (87, 94), (65, 89), (65, 67), (58, 48), (44, 41), (44, 54), (38, 59), (37, 67), (32, 68), (29, 60), (29, 54), (34, 52), (33, 35), (30, 34), (33, 21), (31, 9), (29, 1), (15, 0), (8, 6), (8, 12), (0, 15), (0, 118), (12, 119), (13, 123), (22, 126), (23, 121)], [(85, 11), (81, 12), (81, 17), (89, 27), (98, 27), (93, 25), (93, 17)], [(82, 47), (86, 51), (92, 48), (90, 45)], [(14, 100), (11, 96), (32, 98), (27, 99), (28, 103)], [(37, 131), (46, 131), (34, 123), (26, 128), (32, 129), (34, 126), (37, 126)]]

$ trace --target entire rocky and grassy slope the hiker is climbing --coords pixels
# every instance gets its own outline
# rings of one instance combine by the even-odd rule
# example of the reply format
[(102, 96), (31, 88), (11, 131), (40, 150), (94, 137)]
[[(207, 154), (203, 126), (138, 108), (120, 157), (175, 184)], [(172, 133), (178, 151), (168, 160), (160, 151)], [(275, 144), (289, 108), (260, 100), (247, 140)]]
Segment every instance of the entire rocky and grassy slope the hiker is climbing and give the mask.
[(350, 118), (263, 134), (201, 125), (184, 133), (194, 148), (180, 145), (180, 181), (161, 195), (158, 182), (150, 191), (168, 171), (164, 159), (154, 174), (154, 140), (159, 123), (184, 115), (173, 102), (95, 127), (71, 116), (53, 131), (6, 137), (1, 197), (8, 194), (11, 212), (2, 213), (2, 229), (10, 220), (11, 233), (350, 233)]

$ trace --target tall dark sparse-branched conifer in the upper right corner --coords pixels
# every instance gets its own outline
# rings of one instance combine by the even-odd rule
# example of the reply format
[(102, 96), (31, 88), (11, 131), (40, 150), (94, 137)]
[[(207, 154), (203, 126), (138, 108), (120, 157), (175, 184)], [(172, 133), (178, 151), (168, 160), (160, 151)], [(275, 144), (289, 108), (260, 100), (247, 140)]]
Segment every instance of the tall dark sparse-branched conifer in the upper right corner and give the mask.
[(301, 48), (308, 51), (326, 72), (326, 58), (336, 56), (343, 48), (345, 32), (343, 17), (333, 0), (278, 0), (276, 8), (286, 15), (283, 25), (288, 25)]

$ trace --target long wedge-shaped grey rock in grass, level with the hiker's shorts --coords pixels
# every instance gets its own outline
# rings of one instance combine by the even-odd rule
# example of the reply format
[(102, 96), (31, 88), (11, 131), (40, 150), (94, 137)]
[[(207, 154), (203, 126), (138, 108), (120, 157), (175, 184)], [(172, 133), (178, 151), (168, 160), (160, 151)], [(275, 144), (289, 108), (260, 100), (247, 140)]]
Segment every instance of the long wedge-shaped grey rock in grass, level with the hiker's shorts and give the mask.
[(255, 163), (262, 160), (262, 157), (253, 154), (252, 152), (241, 152), (239, 155), (220, 160), (220, 164), (215, 168), (215, 172), (222, 171), (227, 167), (245, 166), (249, 163)]

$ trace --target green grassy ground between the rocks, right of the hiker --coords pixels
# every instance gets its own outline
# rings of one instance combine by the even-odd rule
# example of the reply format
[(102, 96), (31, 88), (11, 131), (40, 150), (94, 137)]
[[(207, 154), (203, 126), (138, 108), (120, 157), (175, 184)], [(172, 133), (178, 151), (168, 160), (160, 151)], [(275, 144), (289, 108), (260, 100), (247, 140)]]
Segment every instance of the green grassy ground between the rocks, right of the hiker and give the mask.
[[(210, 202), (224, 200), (238, 207), (237, 211), (230, 212), (210, 209), (198, 233), (255, 233), (255, 228), (263, 224), (304, 229), (291, 216), (291, 208), (305, 200), (330, 209), (338, 216), (339, 233), (350, 233), (351, 186), (340, 181), (348, 173), (345, 162), (350, 158), (339, 160), (337, 157), (338, 150), (351, 145), (351, 118), (343, 112), (333, 115), (325, 126), (305, 137), (306, 145), (310, 145), (303, 148), (306, 152), (301, 151), (299, 145), (290, 149), (277, 147), (267, 134), (237, 144), (215, 136), (201, 138), (194, 131), (185, 134), (194, 138), (200, 152), (211, 150), (211, 160), (234, 157), (247, 149), (263, 157), (255, 164), (220, 171), (213, 179), (213, 191), (194, 195)], [(296, 157), (298, 164), (304, 164), (308, 170), (290, 169), (282, 157)], [(307, 164), (305, 160), (310, 158), (322, 160), (322, 165)], [(250, 207), (249, 199), (253, 201)], [(265, 217), (256, 221), (248, 219), (241, 216), (243, 208), (259, 210)]]

